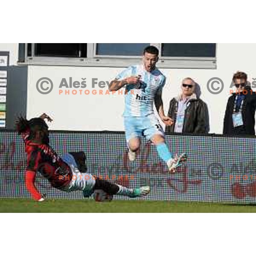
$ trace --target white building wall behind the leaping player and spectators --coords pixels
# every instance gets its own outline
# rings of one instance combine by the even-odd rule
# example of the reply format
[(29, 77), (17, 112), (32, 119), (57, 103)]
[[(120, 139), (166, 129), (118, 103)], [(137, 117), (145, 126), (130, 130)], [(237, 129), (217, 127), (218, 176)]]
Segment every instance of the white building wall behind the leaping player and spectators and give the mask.
[[(15, 64), (17, 44), (0, 44), (0, 50), (10, 50), (13, 53), (11, 64)], [(192, 77), (201, 85), (201, 98), (209, 107), (210, 132), (221, 134), (233, 73), (244, 71), (248, 74), (248, 80), (253, 81), (256, 78), (255, 59), (256, 44), (217, 44), (216, 70), (160, 69), (167, 77), (163, 90), (165, 111), (168, 111), (170, 99), (180, 91), (181, 80), (187, 76)], [(46, 112), (53, 116), (51, 129), (55, 130), (123, 131), (123, 96), (99, 95), (99, 87), (95, 88), (97, 94), (93, 95), (91, 83), (93, 78), (110, 81), (121, 70), (112, 67), (29, 66), (28, 118)], [(50, 78), (54, 84), (52, 92), (47, 95), (38, 93), (36, 89), (36, 82), (42, 77)], [(81, 78), (86, 78), (87, 87), (80, 90), (90, 90), (90, 95), (59, 95), (61, 79), (69, 81), (69, 77), (79, 82)], [(212, 77), (220, 77), (224, 81), (224, 90), (220, 94), (213, 95), (207, 90), (207, 81)]]

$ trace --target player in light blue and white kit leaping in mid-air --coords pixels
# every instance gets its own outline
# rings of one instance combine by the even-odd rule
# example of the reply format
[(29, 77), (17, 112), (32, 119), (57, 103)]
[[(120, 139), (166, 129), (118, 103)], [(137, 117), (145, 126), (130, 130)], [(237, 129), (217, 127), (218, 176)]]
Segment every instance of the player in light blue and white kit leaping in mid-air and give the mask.
[(134, 65), (123, 70), (111, 81), (110, 90), (126, 87), (124, 125), (130, 161), (136, 159), (140, 147), (140, 137), (145, 136), (157, 147), (160, 158), (166, 162), (171, 173), (183, 161), (186, 154), (173, 156), (165, 141), (164, 132), (157, 117), (154, 115), (153, 104), (165, 125), (172, 125), (173, 120), (165, 116), (163, 111), (162, 90), (166, 77), (156, 68), (159, 51), (148, 46), (143, 52), (143, 64)]

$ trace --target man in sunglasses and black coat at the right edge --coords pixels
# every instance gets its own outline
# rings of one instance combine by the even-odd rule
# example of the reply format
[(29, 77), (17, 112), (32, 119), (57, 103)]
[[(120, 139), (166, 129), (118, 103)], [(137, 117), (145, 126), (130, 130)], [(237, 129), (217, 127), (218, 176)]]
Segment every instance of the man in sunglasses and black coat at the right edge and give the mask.
[(247, 81), (247, 74), (236, 72), (233, 76), (236, 92), (227, 102), (223, 134), (255, 135), (256, 94)]

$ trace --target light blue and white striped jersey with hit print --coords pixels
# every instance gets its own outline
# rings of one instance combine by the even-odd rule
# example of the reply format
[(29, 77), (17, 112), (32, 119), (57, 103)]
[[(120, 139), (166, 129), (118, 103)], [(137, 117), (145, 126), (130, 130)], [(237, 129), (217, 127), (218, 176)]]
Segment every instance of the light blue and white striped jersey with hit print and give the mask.
[(155, 69), (151, 72), (145, 70), (143, 65), (134, 65), (123, 70), (116, 80), (124, 80), (130, 76), (140, 76), (140, 84), (126, 86), (124, 117), (142, 117), (153, 114), (154, 98), (165, 84), (166, 77)]

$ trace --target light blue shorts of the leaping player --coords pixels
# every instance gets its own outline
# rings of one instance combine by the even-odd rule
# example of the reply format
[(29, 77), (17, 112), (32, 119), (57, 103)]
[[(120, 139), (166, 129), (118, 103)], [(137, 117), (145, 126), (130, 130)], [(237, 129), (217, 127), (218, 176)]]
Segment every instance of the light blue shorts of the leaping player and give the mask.
[(142, 117), (126, 116), (124, 117), (124, 125), (127, 142), (132, 138), (142, 136), (150, 140), (156, 134), (164, 137), (163, 128), (154, 114)]

